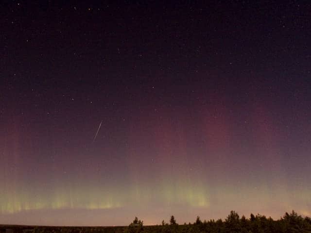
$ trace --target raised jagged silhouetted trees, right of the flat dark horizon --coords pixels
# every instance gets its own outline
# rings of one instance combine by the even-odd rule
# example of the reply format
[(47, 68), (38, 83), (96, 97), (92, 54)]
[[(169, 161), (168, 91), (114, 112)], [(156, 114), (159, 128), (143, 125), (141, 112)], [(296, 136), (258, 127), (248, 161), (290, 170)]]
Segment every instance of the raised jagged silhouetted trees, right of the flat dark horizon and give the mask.
[(225, 220), (210, 219), (202, 221), (197, 216), (195, 222), (179, 225), (174, 216), (170, 222), (164, 220), (161, 225), (143, 226), (143, 221), (135, 217), (134, 221), (125, 229), (125, 233), (311, 233), (311, 218), (298, 215), (294, 210), (285, 213), (278, 220), (264, 215), (250, 215), (240, 217), (231, 211)]

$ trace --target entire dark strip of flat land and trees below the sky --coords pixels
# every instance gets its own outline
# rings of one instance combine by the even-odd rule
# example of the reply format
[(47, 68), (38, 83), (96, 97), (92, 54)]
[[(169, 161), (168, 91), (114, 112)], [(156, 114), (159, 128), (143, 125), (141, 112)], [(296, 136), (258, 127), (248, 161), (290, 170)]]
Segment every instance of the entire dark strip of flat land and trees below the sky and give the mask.
[(250, 218), (231, 211), (222, 219), (201, 221), (198, 216), (194, 223), (178, 225), (172, 216), (170, 224), (143, 226), (143, 221), (135, 220), (124, 227), (48, 227), (0, 225), (0, 233), (311, 233), (311, 218), (298, 216), (294, 211), (285, 213), (278, 220), (262, 215)]

